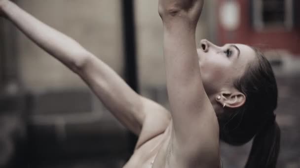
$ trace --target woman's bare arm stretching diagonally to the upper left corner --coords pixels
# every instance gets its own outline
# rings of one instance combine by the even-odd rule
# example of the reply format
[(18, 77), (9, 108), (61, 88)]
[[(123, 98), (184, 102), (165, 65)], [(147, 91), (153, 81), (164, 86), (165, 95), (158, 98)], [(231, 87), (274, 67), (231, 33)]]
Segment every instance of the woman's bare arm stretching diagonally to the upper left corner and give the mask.
[[(111, 67), (86, 51), (74, 39), (43, 24), (15, 3), (0, 0), (0, 16), (11, 21), (40, 48), (78, 74), (108, 110), (135, 134), (140, 134), (146, 116), (168, 116), (163, 107), (137, 94)], [(162, 128), (156, 127), (153, 130), (160, 131)]]

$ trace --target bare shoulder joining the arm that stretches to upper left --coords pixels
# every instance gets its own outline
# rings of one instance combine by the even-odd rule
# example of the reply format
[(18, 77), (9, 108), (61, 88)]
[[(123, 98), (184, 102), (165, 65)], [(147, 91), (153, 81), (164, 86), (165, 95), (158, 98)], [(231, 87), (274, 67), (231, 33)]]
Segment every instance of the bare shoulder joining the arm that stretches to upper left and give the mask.
[(171, 121), (170, 112), (162, 105), (145, 97), (142, 97), (142, 102), (142, 111), (145, 112), (146, 117), (139, 140), (136, 144), (136, 149), (148, 140), (164, 133)]

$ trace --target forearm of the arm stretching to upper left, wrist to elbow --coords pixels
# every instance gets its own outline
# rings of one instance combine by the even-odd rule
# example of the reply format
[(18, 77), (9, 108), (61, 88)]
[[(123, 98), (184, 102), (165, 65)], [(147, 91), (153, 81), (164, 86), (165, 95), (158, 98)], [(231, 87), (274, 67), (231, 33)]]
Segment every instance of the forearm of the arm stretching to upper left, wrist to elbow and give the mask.
[(3, 6), (4, 17), (10, 20), (40, 48), (54, 56), (70, 69), (75, 70), (84, 63), (89, 53), (75, 40), (51, 28), (32, 15), (8, 1)]

